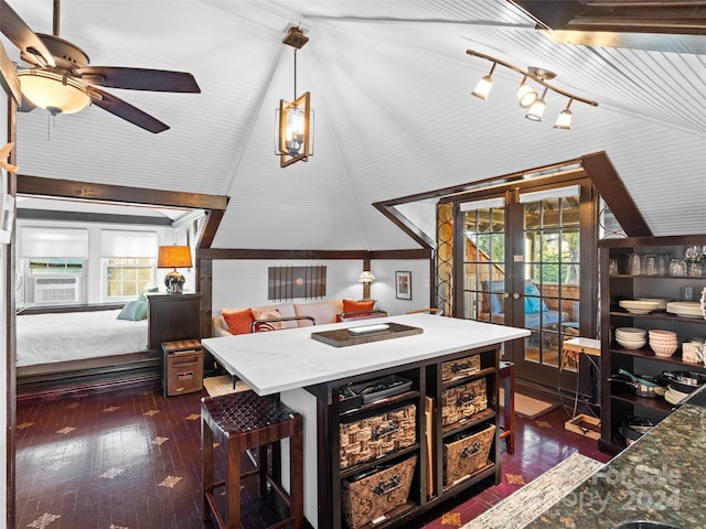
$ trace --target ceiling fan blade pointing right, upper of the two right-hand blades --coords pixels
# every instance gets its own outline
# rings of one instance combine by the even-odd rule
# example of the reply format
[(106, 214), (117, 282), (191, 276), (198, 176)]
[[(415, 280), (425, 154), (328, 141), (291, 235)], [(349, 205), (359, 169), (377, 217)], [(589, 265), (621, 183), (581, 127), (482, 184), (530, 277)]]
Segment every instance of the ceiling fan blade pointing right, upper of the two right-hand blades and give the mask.
[(74, 74), (92, 85), (127, 90), (179, 91), (200, 94), (194, 76), (186, 72), (165, 69), (124, 68), (118, 66), (85, 66)]

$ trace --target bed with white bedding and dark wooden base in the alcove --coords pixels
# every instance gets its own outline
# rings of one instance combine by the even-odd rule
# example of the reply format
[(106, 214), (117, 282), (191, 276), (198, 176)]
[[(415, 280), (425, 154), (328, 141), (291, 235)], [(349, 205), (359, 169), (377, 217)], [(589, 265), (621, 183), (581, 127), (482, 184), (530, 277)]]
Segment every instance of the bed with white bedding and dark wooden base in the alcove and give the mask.
[(148, 320), (118, 320), (119, 312), (18, 315), (18, 399), (158, 382), (161, 358), (159, 350), (149, 348)]

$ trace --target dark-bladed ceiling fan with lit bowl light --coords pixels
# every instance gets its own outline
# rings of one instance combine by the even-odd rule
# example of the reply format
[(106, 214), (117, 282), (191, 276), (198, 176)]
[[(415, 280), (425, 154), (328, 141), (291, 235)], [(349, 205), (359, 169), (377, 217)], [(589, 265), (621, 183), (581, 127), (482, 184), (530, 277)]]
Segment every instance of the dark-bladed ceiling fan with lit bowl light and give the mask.
[(164, 69), (88, 66), (88, 55), (58, 36), (61, 0), (54, 0), (53, 34), (34, 33), (0, 0), (0, 32), (20, 48), (30, 68), (19, 69), (20, 110), (45, 108), (52, 115), (77, 112), (93, 104), (138, 127), (157, 133), (169, 126), (129, 102), (98, 88), (200, 94), (193, 75)]

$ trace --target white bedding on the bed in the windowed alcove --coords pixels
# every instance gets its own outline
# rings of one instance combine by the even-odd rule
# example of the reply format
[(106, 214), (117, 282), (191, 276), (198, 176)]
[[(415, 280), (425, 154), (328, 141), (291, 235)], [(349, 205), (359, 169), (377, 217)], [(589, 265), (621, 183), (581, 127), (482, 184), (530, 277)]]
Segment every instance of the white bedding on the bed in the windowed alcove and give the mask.
[(17, 366), (147, 350), (147, 320), (118, 320), (119, 312), (66, 312), (18, 316)]

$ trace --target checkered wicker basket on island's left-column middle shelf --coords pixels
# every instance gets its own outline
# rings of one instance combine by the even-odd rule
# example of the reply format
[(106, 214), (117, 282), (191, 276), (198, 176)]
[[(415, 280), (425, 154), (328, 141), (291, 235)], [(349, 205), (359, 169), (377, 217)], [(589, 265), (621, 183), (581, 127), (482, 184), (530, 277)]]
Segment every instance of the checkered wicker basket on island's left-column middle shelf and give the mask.
[(408, 404), (340, 425), (341, 468), (415, 444), (417, 408)]

